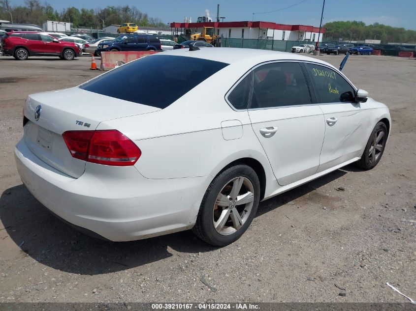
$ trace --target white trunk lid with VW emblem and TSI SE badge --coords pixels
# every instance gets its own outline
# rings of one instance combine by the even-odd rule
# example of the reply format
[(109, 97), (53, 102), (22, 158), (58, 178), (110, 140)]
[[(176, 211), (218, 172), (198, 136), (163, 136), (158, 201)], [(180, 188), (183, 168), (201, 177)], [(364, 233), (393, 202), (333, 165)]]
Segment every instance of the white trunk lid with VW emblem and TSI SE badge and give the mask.
[(159, 110), (78, 87), (33, 94), (25, 104), (28, 121), (24, 139), (39, 159), (78, 178), (84, 173), (85, 161), (72, 157), (62, 136), (64, 132), (95, 130), (102, 121)]

